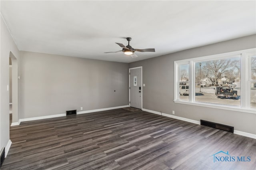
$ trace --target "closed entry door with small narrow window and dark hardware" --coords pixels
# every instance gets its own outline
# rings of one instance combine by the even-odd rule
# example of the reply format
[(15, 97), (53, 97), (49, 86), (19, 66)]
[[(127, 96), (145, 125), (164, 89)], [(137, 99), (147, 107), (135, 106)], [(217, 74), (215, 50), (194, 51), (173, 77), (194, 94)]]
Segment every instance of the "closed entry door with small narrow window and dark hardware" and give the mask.
[(130, 69), (130, 107), (141, 109), (142, 101), (142, 68)]

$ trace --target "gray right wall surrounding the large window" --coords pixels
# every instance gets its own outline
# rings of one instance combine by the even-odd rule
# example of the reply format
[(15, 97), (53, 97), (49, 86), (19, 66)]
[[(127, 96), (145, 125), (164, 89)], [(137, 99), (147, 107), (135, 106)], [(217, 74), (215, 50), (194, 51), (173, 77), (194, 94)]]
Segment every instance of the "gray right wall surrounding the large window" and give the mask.
[[(142, 66), (143, 108), (162, 111), (196, 121), (200, 119), (234, 126), (235, 130), (256, 134), (256, 114), (213, 109), (174, 103), (174, 61), (250, 49), (256, 47), (256, 35), (188, 49), (134, 63), (129, 68)], [(157, 49), (156, 49), (157, 50)]]

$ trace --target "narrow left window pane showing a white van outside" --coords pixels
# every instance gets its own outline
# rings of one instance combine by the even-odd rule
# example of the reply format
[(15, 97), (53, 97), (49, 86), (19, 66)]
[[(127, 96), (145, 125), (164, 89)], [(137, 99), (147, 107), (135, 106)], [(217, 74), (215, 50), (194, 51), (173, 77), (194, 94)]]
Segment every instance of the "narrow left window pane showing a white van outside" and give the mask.
[(189, 65), (179, 65), (179, 93), (180, 99), (188, 100), (188, 69)]

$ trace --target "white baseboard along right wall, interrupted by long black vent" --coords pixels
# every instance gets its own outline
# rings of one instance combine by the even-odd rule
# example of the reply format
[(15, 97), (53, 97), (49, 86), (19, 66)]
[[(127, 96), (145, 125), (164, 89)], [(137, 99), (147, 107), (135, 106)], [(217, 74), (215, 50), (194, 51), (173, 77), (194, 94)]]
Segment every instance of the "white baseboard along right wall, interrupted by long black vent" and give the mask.
[[(148, 109), (142, 109), (142, 111), (146, 111), (146, 112), (149, 112), (149, 113), (154, 113), (154, 114), (157, 114), (157, 115), (161, 115), (161, 112), (152, 111), (152, 110), (148, 110)], [(195, 121), (195, 120), (187, 119), (187, 118), (184, 118), (184, 117), (178, 117), (178, 116), (169, 115), (169, 114), (166, 114), (166, 113), (162, 113), (162, 116), (170, 117), (170, 118), (173, 118), (173, 119), (179, 119), (181, 121), (186, 121), (186, 122), (190, 122), (190, 123), (200, 125), (200, 121)], [(247, 132), (234, 130), (234, 134), (238, 134), (238, 135), (241, 135), (241, 136), (246, 136), (246, 137), (249, 137), (249, 138), (256, 139), (256, 134), (252, 134), (252, 133), (247, 133)]]

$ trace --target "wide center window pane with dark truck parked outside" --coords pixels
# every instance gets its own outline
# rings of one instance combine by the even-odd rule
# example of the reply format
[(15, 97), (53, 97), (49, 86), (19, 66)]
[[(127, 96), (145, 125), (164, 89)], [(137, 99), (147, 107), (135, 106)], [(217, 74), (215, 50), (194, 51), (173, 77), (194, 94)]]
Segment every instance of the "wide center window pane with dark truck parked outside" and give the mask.
[(195, 63), (195, 100), (240, 106), (240, 57)]

